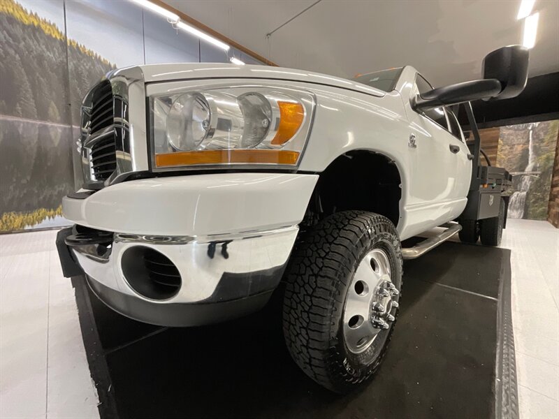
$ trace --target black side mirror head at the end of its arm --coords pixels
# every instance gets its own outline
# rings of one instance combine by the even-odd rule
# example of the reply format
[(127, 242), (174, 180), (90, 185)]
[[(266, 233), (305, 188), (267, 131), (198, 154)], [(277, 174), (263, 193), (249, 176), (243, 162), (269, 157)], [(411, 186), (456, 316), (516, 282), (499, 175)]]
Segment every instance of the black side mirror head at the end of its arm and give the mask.
[(522, 93), (528, 81), (528, 48), (510, 45), (490, 52), (483, 62), (484, 79), (496, 79), (502, 85), (497, 96), (486, 101), (514, 98)]

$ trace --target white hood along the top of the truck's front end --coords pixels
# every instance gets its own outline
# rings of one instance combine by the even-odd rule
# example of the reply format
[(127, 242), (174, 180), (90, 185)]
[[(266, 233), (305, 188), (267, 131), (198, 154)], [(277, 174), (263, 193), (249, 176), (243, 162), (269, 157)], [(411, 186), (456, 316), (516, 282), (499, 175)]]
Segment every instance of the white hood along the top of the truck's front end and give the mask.
[(310, 71), (296, 70), (293, 68), (268, 66), (238, 66), (235, 64), (215, 63), (147, 64), (145, 66), (120, 68), (108, 73), (107, 77), (112, 78), (117, 75), (126, 76), (128, 73), (137, 74), (138, 69), (143, 73), (143, 79), (146, 83), (205, 78), (251, 78), (266, 80), (293, 80), (298, 82), (322, 84), (326, 86), (340, 87), (341, 89), (359, 91), (361, 93), (377, 97), (383, 97), (386, 94), (386, 92), (367, 86), (366, 84), (361, 84), (344, 78), (338, 78), (333, 75), (312, 73)]

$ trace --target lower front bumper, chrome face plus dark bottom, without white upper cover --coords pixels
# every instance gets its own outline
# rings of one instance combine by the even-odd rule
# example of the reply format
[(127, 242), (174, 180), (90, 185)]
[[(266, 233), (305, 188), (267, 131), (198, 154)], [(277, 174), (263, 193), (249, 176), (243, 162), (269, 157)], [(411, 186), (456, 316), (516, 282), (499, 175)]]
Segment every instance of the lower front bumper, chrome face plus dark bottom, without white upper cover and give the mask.
[[(66, 245), (94, 293), (115, 311), (146, 323), (188, 326), (228, 320), (266, 304), (297, 233), (298, 227), (291, 226), (196, 239), (117, 234), (108, 245), (67, 238)], [(154, 249), (173, 262), (182, 279), (175, 295), (154, 300), (136, 291), (122, 263), (124, 253), (135, 247)]]

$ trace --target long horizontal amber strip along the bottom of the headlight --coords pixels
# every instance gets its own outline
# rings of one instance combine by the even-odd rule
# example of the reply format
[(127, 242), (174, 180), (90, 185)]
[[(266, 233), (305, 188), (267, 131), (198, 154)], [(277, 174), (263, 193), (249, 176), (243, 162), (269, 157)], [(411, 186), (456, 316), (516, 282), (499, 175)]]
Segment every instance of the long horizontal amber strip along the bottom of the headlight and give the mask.
[(156, 154), (155, 164), (158, 168), (223, 163), (274, 163), (294, 165), (297, 163), (298, 157), (298, 152), (289, 150), (201, 150), (198, 152)]

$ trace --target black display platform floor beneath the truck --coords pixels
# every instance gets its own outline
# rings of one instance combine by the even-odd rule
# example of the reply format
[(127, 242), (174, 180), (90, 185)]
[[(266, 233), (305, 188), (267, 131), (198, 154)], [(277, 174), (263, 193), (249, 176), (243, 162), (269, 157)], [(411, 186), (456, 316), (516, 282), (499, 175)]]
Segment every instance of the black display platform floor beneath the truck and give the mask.
[(264, 310), (159, 328), (105, 307), (74, 278), (102, 418), (516, 418), (510, 251), (447, 242), (404, 265), (384, 365), (338, 396), (291, 360)]

